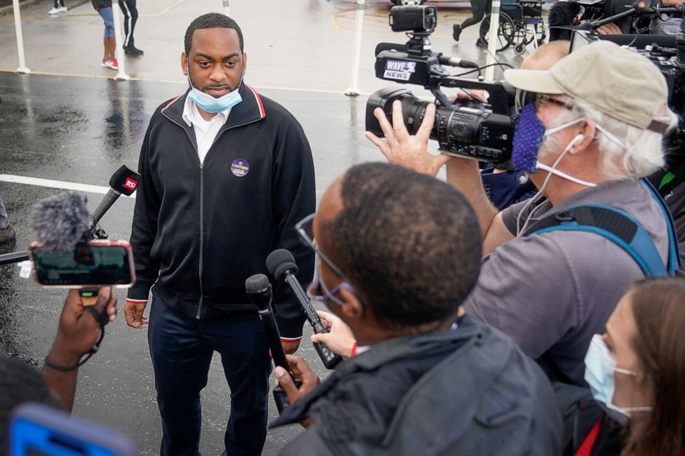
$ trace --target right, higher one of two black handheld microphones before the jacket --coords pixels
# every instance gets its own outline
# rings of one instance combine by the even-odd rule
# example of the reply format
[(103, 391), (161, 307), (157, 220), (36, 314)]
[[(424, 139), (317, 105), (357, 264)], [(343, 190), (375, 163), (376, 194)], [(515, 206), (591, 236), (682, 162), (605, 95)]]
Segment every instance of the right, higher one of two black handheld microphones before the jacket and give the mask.
[[(328, 333), (328, 329), (323, 326), (321, 319), (316, 315), (316, 310), (311, 306), (311, 301), (309, 301), (307, 293), (305, 293), (305, 290), (302, 290), (298, 278), (295, 277), (298, 272), (298, 266), (295, 263), (293, 254), (284, 248), (273, 250), (267, 257), (267, 269), (269, 270), (269, 274), (273, 275), (273, 278), (276, 279), (276, 281), (285, 281), (285, 283), (288, 284), (293, 291), (293, 295), (295, 295), (300, 302), (300, 306), (305, 309), (307, 320), (309, 320), (309, 324), (314, 333)], [(333, 369), (338, 366), (340, 361), (343, 361), (343, 358), (333, 353), (326, 344), (313, 342), (313, 346), (326, 368)]]

